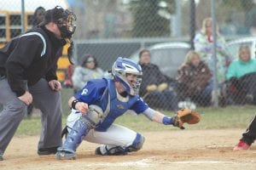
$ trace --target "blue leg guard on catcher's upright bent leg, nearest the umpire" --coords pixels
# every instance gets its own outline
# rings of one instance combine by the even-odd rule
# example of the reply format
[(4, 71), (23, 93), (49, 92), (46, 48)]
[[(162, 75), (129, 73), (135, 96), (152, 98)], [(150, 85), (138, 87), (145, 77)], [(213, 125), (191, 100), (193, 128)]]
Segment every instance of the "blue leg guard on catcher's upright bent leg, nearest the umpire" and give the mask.
[(84, 139), (84, 136), (101, 121), (102, 109), (97, 105), (90, 105), (89, 109), (90, 111), (85, 116), (81, 116), (75, 122), (71, 132), (67, 135), (66, 141), (62, 147), (58, 148), (55, 155), (57, 159), (74, 159), (76, 156), (75, 150)]

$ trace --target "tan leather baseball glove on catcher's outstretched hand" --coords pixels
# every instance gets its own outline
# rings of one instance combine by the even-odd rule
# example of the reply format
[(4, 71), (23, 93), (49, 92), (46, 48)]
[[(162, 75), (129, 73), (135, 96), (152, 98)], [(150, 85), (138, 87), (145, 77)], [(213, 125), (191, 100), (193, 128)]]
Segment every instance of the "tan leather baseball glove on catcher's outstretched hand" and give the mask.
[(200, 122), (201, 116), (196, 111), (182, 109), (177, 111), (177, 116), (173, 117), (173, 126), (184, 129), (183, 123), (196, 124)]

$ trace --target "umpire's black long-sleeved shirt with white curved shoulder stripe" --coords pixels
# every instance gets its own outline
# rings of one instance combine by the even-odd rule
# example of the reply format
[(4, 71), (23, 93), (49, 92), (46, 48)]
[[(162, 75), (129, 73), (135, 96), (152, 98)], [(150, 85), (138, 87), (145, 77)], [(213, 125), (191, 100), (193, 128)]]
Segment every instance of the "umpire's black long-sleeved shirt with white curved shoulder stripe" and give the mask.
[(57, 80), (57, 60), (60, 57), (57, 54), (66, 44), (45, 26), (28, 32), (39, 32), (45, 41), (38, 35), (21, 35), (0, 49), (0, 76), (7, 77), (10, 88), (18, 97), (25, 94), (26, 83), (32, 86), (43, 77), (48, 82)]

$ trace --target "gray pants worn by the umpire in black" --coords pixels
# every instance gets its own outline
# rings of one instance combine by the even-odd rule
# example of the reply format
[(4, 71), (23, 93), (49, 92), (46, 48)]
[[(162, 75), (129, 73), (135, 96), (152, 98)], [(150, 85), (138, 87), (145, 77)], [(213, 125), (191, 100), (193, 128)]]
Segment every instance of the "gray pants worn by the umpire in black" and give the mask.
[[(51, 90), (43, 78), (29, 87), (29, 92), (33, 105), (42, 111), (38, 149), (61, 146), (61, 93)], [(3, 154), (26, 113), (26, 105), (17, 98), (3, 77), (0, 77), (0, 104), (3, 105), (0, 112), (0, 154)]]

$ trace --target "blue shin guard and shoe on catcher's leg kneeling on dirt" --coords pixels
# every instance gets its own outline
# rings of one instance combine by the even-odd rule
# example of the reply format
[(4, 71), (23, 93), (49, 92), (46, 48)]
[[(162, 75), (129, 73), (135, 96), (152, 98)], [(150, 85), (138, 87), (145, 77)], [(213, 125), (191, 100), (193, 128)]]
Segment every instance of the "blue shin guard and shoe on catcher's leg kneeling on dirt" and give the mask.
[(143, 135), (141, 135), (140, 133), (137, 133), (136, 139), (134, 139), (133, 143), (127, 147), (102, 144), (96, 148), (95, 153), (96, 155), (102, 155), (102, 156), (126, 155), (128, 152), (142, 149), (144, 141), (145, 139)]

